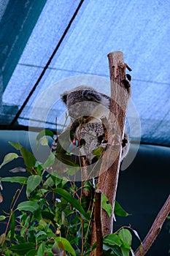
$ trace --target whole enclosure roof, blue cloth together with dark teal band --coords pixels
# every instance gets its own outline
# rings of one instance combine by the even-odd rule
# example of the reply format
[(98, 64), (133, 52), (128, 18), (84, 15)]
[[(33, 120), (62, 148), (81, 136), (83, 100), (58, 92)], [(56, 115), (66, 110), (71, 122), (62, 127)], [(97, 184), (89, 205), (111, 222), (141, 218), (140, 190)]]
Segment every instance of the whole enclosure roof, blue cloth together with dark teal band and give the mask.
[(55, 129), (61, 92), (80, 84), (109, 94), (107, 54), (120, 50), (133, 69), (131, 140), (170, 146), (169, 10), (168, 0), (1, 0), (1, 129)]

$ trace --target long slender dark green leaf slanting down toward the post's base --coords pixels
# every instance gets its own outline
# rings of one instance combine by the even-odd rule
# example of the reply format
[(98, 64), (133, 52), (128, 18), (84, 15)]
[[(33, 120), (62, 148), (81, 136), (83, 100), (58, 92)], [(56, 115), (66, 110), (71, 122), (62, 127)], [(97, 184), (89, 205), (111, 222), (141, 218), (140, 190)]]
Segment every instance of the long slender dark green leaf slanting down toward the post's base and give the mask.
[(61, 195), (61, 197), (63, 197), (67, 202), (69, 202), (71, 204), (71, 206), (73, 206), (74, 208), (77, 209), (77, 211), (80, 211), (80, 213), (86, 218), (89, 219), (88, 214), (85, 212), (85, 210), (82, 208), (82, 206), (80, 205), (80, 201), (75, 199), (74, 197), (72, 197), (72, 195), (69, 194), (69, 192), (67, 192), (64, 189), (53, 189), (53, 192), (55, 194)]

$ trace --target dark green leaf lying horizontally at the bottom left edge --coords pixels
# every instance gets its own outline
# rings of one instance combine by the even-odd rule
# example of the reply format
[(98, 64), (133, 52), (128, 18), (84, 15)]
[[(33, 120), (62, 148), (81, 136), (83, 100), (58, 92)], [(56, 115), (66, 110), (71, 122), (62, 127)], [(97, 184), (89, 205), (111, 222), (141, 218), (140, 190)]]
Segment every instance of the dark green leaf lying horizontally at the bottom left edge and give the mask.
[(18, 255), (26, 255), (27, 252), (35, 248), (36, 248), (36, 244), (34, 243), (24, 243), (24, 244), (17, 244), (17, 245), (10, 246), (9, 250), (17, 253)]

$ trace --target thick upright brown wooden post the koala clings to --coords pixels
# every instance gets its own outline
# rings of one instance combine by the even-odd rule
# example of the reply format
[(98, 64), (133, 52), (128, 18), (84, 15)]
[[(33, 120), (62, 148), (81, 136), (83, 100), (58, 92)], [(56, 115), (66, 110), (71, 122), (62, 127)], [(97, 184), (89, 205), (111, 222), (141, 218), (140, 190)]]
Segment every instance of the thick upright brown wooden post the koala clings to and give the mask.
[(98, 189), (108, 198), (112, 206), (112, 216), (102, 210), (103, 236), (112, 233), (115, 197), (117, 192), (117, 181), (120, 170), (120, 159), (122, 140), (125, 129), (125, 115), (128, 105), (129, 94), (122, 80), (125, 80), (125, 67), (123, 53), (113, 52), (108, 54), (109, 72), (111, 83), (111, 106), (107, 127), (108, 147), (105, 152), (100, 175), (98, 177)]

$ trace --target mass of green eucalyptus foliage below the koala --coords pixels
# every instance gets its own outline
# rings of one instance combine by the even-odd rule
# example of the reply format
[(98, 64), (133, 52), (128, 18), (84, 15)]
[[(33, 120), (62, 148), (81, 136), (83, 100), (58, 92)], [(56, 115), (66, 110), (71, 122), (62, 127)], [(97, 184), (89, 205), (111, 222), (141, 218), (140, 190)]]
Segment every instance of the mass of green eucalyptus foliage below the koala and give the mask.
[[(40, 132), (36, 137), (37, 147), (40, 140), (42, 145), (47, 145), (45, 136), (53, 138), (53, 132)], [(0, 178), (1, 182), (20, 184), (9, 213), (0, 216), (0, 222), (6, 223), (5, 232), (0, 234), (0, 255), (90, 255), (95, 247), (95, 244), (90, 244), (93, 185), (85, 181), (78, 186), (74, 181), (61, 178), (55, 169), (51, 174), (47, 172), (49, 167), (53, 167), (55, 157), (58, 157), (66, 164), (72, 162), (73, 167), (69, 171), (74, 175), (75, 164), (69, 154), (63, 151), (61, 144), (62, 140), (57, 153), (51, 152), (47, 160), (41, 163), (36, 162), (34, 155), (20, 143), (10, 142), (19, 154), (7, 154), (0, 167), (21, 157), (26, 165), (27, 177)], [(101, 149), (95, 153), (99, 156)], [(27, 199), (18, 203), (22, 193), (26, 194)], [(102, 195), (102, 208), (110, 216), (112, 207), (105, 195)], [(128, 216), (118, 203), (115, 204), (115, 214)], [(133, 253), (131, 233), (127, 228), (105, 236), (103, 242), (104, 255), (128, 256), (129, 252)]]

